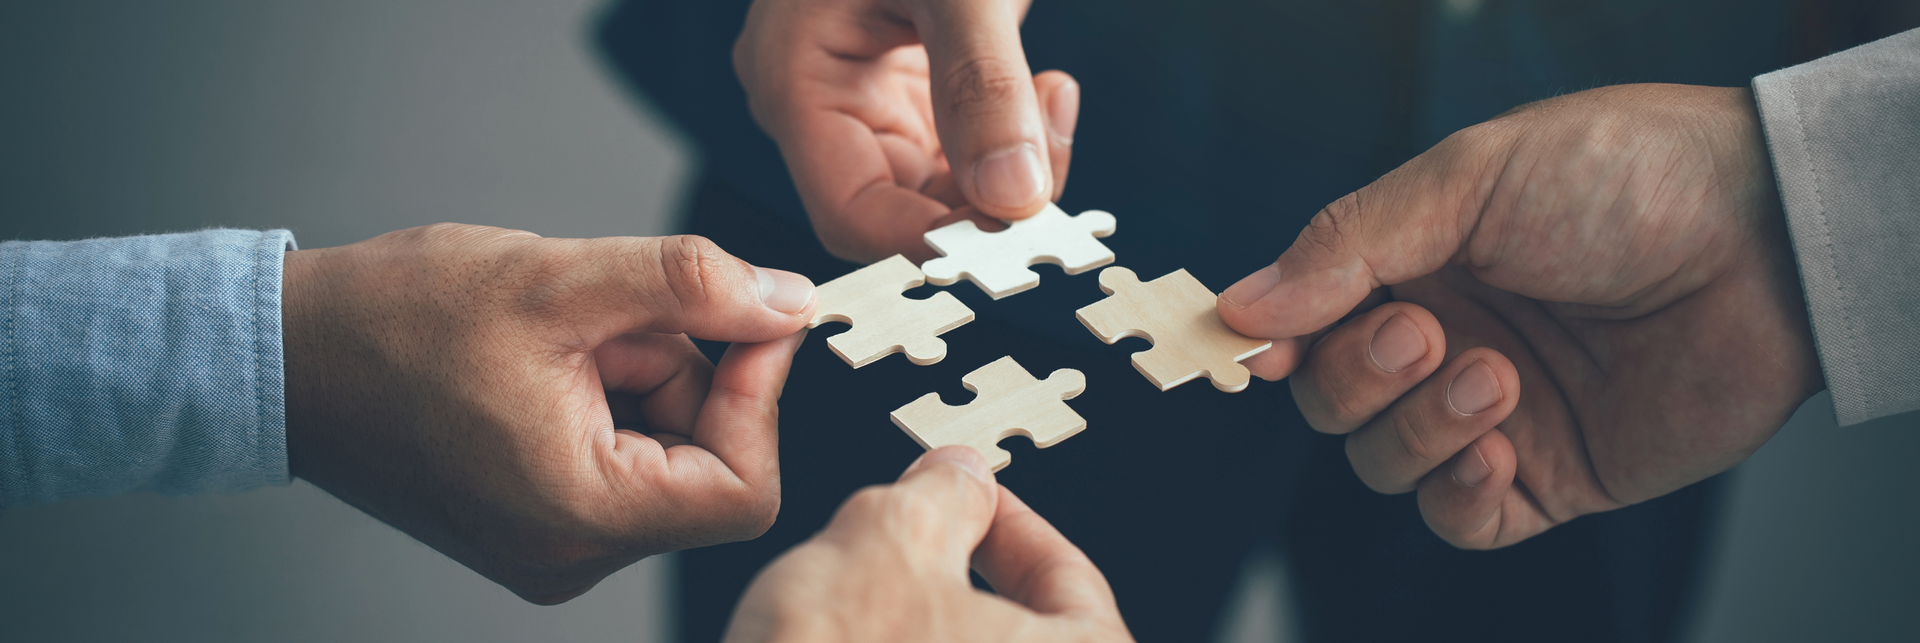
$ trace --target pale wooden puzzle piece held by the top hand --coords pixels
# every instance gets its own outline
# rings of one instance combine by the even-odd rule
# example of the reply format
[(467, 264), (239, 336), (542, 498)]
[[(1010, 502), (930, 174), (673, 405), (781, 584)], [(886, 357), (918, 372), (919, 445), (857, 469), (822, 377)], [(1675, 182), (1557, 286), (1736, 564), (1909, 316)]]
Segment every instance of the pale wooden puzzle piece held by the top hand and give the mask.
[(943, 257), (920, 265), (935, 286), (948, 286), (962, 276), (995, 299), (1041, 284), (1041, 273), (1029, 265), (1046, 261), (1068, 274), (1079, 274), (1114, 263), (1114, 251), (1098, 236), (1114, 234), (1114, 215), (1089, 209), (1068, 217), (1054, 203), (1039, 215), (1006, 225), (1000, 232), (983, 232), (972, 221), (960, 221), (925, 234)]

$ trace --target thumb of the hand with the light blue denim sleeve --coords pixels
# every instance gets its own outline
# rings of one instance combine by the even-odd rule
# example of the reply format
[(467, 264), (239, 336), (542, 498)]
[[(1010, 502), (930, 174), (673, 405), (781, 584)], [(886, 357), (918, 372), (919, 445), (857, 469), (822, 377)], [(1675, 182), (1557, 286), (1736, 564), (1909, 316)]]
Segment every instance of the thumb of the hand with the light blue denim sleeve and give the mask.
[[(806, 326), (814, 282), (760, 269), (701, 236), (595, 238), (576, 298), (626, 332), (685, 332), (714, 342), (770, 342)], [(605, 340), (605, 338), (601, 338)]]

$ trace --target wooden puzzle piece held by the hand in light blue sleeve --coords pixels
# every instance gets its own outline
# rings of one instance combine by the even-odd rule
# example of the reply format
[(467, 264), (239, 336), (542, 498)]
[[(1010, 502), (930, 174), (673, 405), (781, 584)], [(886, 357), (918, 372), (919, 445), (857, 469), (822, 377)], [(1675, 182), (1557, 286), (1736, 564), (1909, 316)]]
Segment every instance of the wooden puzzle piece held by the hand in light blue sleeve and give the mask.
[(947, 357), (947, 342), (939, 334), (973, 321), (973, 309), (950, 292), (937, 292), (927, 299), (902, 296), (924, 282), (925, 276), (906, 257), (881, 259), (822, 284), (814, 321), (806, 328), (852, 324), (852, 330), (828, 338), (828, 347), (854, 369), (893, 351), (904, 351), (916, 365), (937, 363)]

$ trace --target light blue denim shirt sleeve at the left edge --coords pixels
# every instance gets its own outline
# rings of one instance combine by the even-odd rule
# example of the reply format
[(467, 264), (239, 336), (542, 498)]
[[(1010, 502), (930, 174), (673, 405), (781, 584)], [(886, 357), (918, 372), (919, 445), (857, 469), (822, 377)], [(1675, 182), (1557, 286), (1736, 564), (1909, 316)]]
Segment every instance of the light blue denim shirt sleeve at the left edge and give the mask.
[(286, 230), (0, 244), (0, 507), (284, 486)]

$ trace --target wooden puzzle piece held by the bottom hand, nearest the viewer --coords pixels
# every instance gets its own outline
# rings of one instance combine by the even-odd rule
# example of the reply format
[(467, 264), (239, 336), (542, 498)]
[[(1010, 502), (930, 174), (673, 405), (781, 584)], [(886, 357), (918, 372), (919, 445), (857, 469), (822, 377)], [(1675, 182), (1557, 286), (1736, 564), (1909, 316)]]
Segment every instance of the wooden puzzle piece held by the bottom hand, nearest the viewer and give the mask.
[(1046, 449), (1087, 428), (1087, 420), (1066, 403), (1087, 390), (1087, 376), (1079, 370), (1060, 369), (1046, 380), (1035, 380), (1014, 357), (1000, 357), (960, 382), (979, 393), (972, 403), (952, 407), (941, 401), (941, 393), (925, 393), (895, 409), (889, 415), (893, 424), (927, 451), (970, 445), (987, 457), (993, 470), (1014, 461), (1000, 449), (1000, 440), (1027, 436), (1035, 447)]

